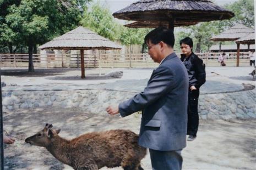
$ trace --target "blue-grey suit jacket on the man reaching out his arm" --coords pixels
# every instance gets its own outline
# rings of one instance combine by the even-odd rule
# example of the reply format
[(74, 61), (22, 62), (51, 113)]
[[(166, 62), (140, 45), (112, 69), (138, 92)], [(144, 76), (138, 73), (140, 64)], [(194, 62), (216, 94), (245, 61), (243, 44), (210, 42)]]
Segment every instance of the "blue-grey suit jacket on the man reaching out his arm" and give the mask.
[(142, 110), (139, 145), (170, 151), (186, 147), (188, 73), (175, 53), (152, 72), (143, 92), (119, 104), (122, 117)]

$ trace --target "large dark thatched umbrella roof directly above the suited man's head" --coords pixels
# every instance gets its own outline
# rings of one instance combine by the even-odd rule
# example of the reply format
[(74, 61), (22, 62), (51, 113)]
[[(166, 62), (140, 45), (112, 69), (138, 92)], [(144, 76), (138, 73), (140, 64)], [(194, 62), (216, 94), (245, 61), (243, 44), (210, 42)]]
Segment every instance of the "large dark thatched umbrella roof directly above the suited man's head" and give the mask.
[(208, 0), (140, 0), (113, 16), (139, 22), (168, 22), (172, 18), (175, 25), (182, 22), (182, 26), (188, 26), (194, 22), (230, 19), (234, 14)]

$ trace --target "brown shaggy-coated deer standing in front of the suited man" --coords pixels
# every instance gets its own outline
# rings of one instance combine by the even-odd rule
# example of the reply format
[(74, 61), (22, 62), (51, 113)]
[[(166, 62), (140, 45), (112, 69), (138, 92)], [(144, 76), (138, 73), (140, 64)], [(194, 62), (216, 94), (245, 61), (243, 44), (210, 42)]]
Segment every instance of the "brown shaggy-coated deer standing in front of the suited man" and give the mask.
[(59, 161), (74, 169), (118, 167), (143, 169), (140, 161), (146, 149), (139, 146), (138, 135), (128, 130), (111, 130), (80, 135), (72, 140), (59, 137), (60, 129), (46, 123), (42, 131), (25, 139), (31, 145), (45, 147)]

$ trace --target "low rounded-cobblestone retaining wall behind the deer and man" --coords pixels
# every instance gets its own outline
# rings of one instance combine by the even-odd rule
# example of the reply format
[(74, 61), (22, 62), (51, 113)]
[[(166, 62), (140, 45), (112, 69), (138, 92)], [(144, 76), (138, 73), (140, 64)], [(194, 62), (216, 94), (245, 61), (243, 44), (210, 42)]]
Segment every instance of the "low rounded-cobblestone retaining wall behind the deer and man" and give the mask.
[[(115, 90), (57, 90), (57, 91), (3, 91), (3, 111), (36, 109), (37, 107), (80, 107), (86, 112), (106, 114), (108, 105), (132, 97), (134, 92)], [(243, 92), (201, 94), (199, 116), (201, 119), (256, 118), (255, 89)]]

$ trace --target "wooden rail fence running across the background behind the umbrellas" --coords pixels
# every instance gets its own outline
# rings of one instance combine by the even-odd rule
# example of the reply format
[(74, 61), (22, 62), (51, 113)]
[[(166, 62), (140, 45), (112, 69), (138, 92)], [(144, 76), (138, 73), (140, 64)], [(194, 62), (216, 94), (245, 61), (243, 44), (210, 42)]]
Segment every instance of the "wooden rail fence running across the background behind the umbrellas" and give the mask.
[[(218, 56), (221, 53), (196, 53), (199, 58), (203, 59), (206, 66), (220, 66)], [(226, 66), (236, 66), (237, 53), (226, 54)], [(180, 56), (179, 53), (177, 53)], [(85, 67), (87, 68), (151, 68), (157, 67), (157, 63), (144, 54), (100, 54), (84, 55)], [(240, 66), (249, 66), (249, 53), (243, 52), (239, 57)], [(1, 67), (28, 67), (28, 54), (2, 54), (0, 53)], [(34, 67), (80, 67), (79, 54), (33, 54)]]

